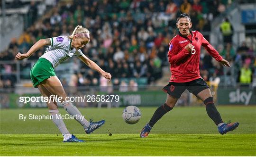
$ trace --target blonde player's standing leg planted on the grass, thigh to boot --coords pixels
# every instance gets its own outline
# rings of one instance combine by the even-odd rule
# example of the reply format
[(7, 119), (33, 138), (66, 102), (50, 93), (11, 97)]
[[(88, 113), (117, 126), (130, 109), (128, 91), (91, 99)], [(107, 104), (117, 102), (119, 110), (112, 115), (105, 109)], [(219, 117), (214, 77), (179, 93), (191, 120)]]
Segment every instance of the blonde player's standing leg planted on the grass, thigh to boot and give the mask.
[[(52, 95), (43, 85), (38, 85), (38, 90), (41, 92), (43, 97), (48, 97), (50, 99), (50, 96)], [(57, 103), (53, 100), (49, 100), (47, 103), (47, 106), (49, 108), (49, 113), (52, 116), (51, 119), (53, 120), (54, 124), (57, 126), (59, 131), (64, 136), (63, 141), (68, 142), (82, 142), (83, 140), (78, 140), (77, 138), (73, 137), (71, 133), (66, 128), (66, 125), (64, 124), (64, 121), (62, 118), (60, 118), (59, 110)]]

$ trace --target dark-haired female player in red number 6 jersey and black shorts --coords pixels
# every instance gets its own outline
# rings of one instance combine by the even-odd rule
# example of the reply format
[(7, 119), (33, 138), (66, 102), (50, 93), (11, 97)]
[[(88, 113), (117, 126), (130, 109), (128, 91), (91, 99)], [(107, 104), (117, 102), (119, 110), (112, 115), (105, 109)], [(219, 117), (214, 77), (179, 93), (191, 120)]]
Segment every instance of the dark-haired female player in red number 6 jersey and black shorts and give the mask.
[(172, 110), (181, 94), (186, 89), (204, 102), (208, 116), (218, 126), (220, 134), (225, 134), (238, 127), (237, 123), (223, 123), (217, 111), (210, 88), (200, 76), (200, 49), (203, 46), (210, 55), (224, 66), (229, 62), (198, 31), (191, 31), (192, 22), (188, 14), (181, 14), (176, 21), (179, 34), (169, 43), (168, 59), (172, 72), (170, 83), (163, 88), (167, 93), (165, 104), (155, 110), (154, 115), (142, 129), (140, 137), (147, 137), (154, 124), (168, 111)]

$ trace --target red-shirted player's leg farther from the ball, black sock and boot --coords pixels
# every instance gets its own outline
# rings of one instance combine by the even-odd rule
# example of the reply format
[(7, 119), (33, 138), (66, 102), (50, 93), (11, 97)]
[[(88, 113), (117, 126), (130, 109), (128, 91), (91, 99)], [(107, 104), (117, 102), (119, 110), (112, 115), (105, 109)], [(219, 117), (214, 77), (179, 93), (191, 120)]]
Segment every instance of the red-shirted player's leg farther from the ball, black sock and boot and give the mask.
[(218, 126), (218, 130), (220, 134), (225, 134), (229, 131), (236, 129), (239, 125), (238, 122), (236, 123), (223, 123), (221, 116), (214, 105), (213, 97), (211, 95), (210, 89), (207, 88), (197, 94), (199, 98), (202, 99), (203, 103), (206, 107), (206, 112), (208, 116), (213, 120), (213, 122)]

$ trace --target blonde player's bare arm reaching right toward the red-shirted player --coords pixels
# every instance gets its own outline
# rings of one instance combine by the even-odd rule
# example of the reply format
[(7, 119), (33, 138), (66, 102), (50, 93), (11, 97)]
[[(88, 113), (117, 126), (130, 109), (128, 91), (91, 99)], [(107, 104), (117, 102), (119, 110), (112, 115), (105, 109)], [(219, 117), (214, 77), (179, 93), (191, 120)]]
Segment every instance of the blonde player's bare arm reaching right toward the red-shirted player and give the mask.
[(91, 59), (86, 57), (84, 54), (82, 54), (82, 56), (80, 56), (79, 58), (82, 60), (83, 63), (85, 63), (91, 69), (99, 72), (105, 79), (108, 79), (110, 82), (112, 77), (110, 73), (107, 73), (104, 70), (102, 70), (100, 66), (98, 66), (95, 62), (93, 62)]

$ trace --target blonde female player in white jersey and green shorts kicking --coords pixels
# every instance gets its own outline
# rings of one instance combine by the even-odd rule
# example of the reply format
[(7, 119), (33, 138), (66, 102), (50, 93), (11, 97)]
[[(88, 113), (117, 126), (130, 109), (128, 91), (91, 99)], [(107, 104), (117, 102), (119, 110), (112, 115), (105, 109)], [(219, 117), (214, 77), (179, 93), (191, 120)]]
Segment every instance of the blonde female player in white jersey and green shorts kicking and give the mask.
[[(98, 71), (105, 79), (110, 81), (111, 74), (101, 69), (95, 62), (87, 58), (80, 49), (82, 49), (90, 41), (90, 32), (88, 29), (78, 25), (73, 33), (67, 36), (58, 36), (48, 39), (40, 39), (35, 43), (27, 53), (18, 52), (16, 59), (22, 60), (28, 58), (38, 49), (48, 45), (45, 53), (39, 57), (37, 63), (30, 71), (30, 77), (35, 88), (38, 88), (42, 96), (51, 98), (51, 95), (57, 95), (61, 99), (61, 104), (65, 110), (74, 117), (82, 117), (80, 111), (70, 101), (65, 101), (67, 94), (64, 91), (62, 83), (55, 74), (54, 68), (61, 62), (72, 56), (77, 56), (91, 69)], [(48, 101), (47, 106), (52, 120), (64, 136), (64, 142), (83, 142), (71, 134), (63, 119), (58, 118), (59, 110), (57, 103)], [(89, 122), (85, 118), (76, 119), (84, 128), (86, 133), (91, 133), (105, 123), (105, 120), (99, 122)]]

